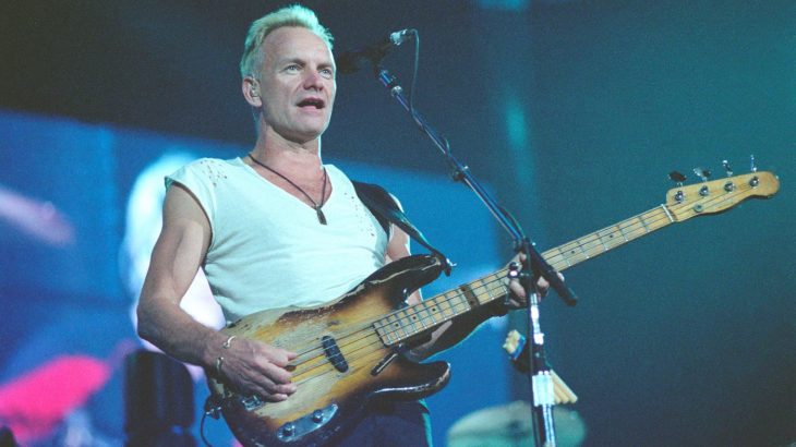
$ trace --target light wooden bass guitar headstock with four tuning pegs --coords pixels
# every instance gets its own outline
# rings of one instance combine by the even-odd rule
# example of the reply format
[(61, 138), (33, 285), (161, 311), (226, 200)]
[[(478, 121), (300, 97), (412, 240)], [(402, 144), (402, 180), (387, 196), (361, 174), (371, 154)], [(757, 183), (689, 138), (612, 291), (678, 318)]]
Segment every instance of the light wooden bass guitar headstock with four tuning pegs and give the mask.
[[(700, 178), (707, 179), (707, 176)], [(780, 179), (776, 176), (767, 171), (752, 171), (687, 186), (678, 183), (677, 188), (666, 193), (666, 208), (675, 221), (683, 221), (695, 216), (724, 212), (747, 198), (769, 198), (777, 191)]]

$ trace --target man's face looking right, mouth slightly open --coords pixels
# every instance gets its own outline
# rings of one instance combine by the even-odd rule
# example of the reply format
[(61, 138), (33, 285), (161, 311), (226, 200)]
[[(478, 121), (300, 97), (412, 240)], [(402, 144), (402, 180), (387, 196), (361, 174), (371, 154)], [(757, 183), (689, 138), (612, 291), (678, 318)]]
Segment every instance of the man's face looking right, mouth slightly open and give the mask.
[(311, 31), (285, 26), (263, 41), (260, 67), (266, 132), (305, 143), (329, 125), (337, 83), (326, 44)]

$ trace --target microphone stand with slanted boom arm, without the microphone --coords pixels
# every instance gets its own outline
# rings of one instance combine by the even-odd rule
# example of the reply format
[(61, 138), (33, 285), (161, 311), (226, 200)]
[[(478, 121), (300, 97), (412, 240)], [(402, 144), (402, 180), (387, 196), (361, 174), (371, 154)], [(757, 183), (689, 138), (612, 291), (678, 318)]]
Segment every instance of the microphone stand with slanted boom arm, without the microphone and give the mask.
[[(536, 292), (536, 279), (541, 276), (547, 280), (551, 287), (556, 291), (558, 297), (567, 304), (575, 305), (577, 298), (575, 293), (564, 285), (558, 274), (542, 255), (536, 251), (535, 244), (527, 237), (519, 224), (510, 218), (509, 215), (492, 198), (484, 188), (475, 180), (470, 169), (462, 165), (450, 153), (450, 146), (444, 137), (442, 137), (425, 119), (410, 107), (409, 101), (403, 95), (403, 87), (398, 84), (396, 77), (379, 64), (374, 64), (374, 72), (378, 81), (390, 93), (405, 110), (407, 110), (418, 126), (432, 140), (434, 145), (445, 155), (451, 172), (454, 181), (465, 183), (486, 208), (492, 216), (497, 219), (500, 226), (511, 235), (514, 240), (514, 250), (516, 253), (524, 253), (527, 262), (521, 267), (510, 268), (509, 277), (517, 278), (529, 291), (528, 303), (528, 331), (527, 339), (531, 342), (531, 361), (528, 372), (532, 390), (533, 390), (533, 426), (534, 440), (536, 446), (554, 447), (555, 442), (555, 424), (553, 421), (553, 406), (555, 404), (555, 392), (553, 388), (553, 378), (550, 367), (545, 360), (544, 353), (544, 334), (539, 323), (539, 294)], [(508, 302), (508, 298), (506, 298)]]

